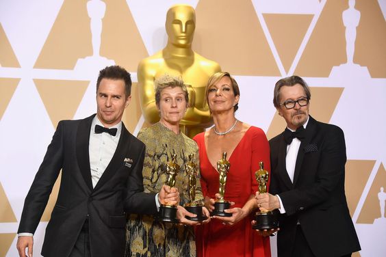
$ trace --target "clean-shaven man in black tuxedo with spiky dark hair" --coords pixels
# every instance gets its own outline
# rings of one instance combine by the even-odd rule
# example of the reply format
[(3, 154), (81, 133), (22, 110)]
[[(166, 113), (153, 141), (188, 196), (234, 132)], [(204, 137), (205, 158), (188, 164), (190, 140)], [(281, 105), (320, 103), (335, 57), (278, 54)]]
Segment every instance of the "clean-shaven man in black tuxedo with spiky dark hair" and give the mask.
[(129, 72), (106, 67), (97, 80), (97, 114), (57, 124), (25, 198), (17, 242), (21, 257), (26, 248), (32, 256), (32, 236), (60, 170), (43, 256), (123, 256), (126, 213), (155, 214), (158, 204), (179, 202), (178, 191), (167, 186), (157, 195), (143, 192), (145, 146), (121, 121), (130, 94)]

